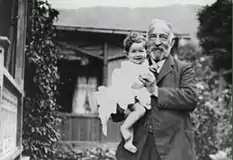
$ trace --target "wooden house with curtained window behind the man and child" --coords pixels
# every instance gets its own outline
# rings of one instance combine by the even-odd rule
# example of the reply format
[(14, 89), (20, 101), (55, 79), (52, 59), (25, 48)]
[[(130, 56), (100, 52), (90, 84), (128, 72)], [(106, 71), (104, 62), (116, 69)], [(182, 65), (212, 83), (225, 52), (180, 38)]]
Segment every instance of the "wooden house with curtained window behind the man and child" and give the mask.
[[(62, 54), (58, 103), (62, 105), (61, 115), (64, 116), (63, 142), (119, 142), (120, 124), (111, 120), (107, 137), (103, 136), (93, 92), (100, 85), (111, 85), (112, 71), (126, 60), (123, 40), (132, 31), (146, 33), (143, 30), (56, 25), (55, 42)], [(175, 36), (175, 48), (181, 40), (190, 39), (188, 34)]]

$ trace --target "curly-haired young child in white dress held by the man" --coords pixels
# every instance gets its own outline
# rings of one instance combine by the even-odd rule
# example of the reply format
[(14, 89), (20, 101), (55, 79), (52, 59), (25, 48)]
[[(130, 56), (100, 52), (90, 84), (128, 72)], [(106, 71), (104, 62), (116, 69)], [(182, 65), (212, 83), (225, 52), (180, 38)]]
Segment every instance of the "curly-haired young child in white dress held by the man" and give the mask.
[[(145, 114), (146, 108), (151, 108), (150, 94), (138, 78), (142, 74), (151, 72), (146, 58), (146, 41), (143, 35), (130, 33), (123, 45), (128, 60), (121, 63), (121, 68), (113, 71), (112, 85), (99, 87), (96, 95), (97, 104), (100, 105), (99, 117), (104, 134), (106, 134), (107, 120), (111, 113), (116, 112), (117, 104), (125, 111), (131, 111), (120, 130), (125, 139), (125, 149), (135, 153), (137, 148), (133, 145), (133, 124)], [(128, 108), (129, 105), (130, 108)]]

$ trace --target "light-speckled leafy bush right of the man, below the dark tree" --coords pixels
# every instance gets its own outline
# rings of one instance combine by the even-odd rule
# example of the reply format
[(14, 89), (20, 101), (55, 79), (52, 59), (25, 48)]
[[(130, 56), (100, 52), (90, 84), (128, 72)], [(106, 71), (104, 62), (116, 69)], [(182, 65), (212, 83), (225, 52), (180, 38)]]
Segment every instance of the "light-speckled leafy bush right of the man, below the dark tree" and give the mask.
[(192, 113), (198, 160), (222, 150), (230, 156), (232, 144), (232, 86), (212, 70), (213, 58), (192, 43), (179, 48), (179, 59), (192, 63), (196, 71), (198, 107)]

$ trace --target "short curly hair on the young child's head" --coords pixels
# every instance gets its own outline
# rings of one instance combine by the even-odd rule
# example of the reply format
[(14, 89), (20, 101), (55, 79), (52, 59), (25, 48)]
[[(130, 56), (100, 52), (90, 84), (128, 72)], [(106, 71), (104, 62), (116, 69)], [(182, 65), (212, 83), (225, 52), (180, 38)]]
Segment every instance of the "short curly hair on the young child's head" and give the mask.
[(147, 48), (146, 37), (143, 34), (131, 32), (127, 35), (127, 37), (123, 41), (123, 47), (127, 53), (129, 52), (129, 49), (133, 43), (143, 43), (144, 47)]

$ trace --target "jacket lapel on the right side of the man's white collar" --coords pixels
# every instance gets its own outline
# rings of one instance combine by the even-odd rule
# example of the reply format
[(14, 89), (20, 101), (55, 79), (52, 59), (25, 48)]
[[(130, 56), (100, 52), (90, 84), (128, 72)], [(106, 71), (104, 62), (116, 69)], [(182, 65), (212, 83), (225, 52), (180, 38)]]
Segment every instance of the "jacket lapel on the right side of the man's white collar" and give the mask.
[(168, 75), (171, 71), (172, 68), (171, 66), (174, 65), (174, 60), (171, 55), (168, 56), (167, 60), (164, 62), (163, 67), (161, 68), (158, 77), (157, 77), (157, 84), (166, 76)]

